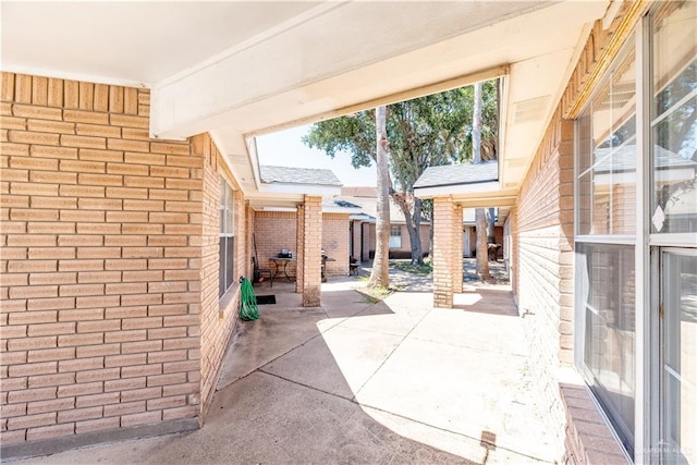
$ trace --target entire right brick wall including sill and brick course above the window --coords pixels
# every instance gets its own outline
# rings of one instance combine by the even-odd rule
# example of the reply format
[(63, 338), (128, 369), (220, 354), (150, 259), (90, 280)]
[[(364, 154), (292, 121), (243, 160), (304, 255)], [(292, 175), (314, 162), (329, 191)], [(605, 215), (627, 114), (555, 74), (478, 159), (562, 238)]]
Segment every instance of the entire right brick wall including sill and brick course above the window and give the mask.
[[(643, 8), (643, 2), (623, 2), (610, 27), (595, 23), (510, 217), (512, 284), (531, 351), (530, 366), (540, 380), (536, 395), (550, 406), (548, 427), (558, 431), (559, 455), (565, 463), (587, 463), (586, 450), (595, 449), (599, 437), (612, 438), (587, 390), (565, 389), (559, 382), (560, 367), (573, 364), (574, 328), (574, 124), (566, 118), (578, 114)], [(573, 408), (579, 404), (584, 408)], [(616, 450), (612, 448), (612, 453)], [(600, 458), (594, 455), (590, 461)]]

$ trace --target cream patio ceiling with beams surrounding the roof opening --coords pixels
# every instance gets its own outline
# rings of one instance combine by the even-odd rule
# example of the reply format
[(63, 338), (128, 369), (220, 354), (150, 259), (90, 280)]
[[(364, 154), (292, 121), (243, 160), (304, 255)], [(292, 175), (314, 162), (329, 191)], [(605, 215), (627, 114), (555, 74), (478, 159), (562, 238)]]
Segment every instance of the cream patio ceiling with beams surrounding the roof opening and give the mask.
[(504, 203), (609, 3), (3, 1), (1, 65), (150, 87), (152, 136), (209, 131), (260, 203), (254, 135), (505, 74)]

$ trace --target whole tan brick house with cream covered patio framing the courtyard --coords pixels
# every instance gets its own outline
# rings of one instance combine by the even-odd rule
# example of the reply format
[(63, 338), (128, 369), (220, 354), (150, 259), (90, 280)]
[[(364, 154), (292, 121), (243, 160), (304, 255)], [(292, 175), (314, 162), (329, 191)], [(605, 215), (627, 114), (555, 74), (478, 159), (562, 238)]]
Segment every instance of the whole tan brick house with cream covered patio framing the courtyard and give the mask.
[(433, 305), (462, 209), (510, 208), (558, 461), (697, 462), (697, 2), (481, 5), (2, 2), (2, 456), (198, 428), (260, 208), (320, 304), (340, 187), (262, 183), (255, 135), (500, 77), (496, 181), (416, 192)]

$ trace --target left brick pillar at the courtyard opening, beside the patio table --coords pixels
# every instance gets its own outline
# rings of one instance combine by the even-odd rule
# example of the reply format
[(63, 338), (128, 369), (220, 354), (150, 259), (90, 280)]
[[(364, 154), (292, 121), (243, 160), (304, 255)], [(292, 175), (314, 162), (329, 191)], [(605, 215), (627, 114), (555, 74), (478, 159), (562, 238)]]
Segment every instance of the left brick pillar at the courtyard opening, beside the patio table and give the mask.
[(317, 307), (321, 287), (322, 198), (306, 195), (304, 210), (303, 306)]

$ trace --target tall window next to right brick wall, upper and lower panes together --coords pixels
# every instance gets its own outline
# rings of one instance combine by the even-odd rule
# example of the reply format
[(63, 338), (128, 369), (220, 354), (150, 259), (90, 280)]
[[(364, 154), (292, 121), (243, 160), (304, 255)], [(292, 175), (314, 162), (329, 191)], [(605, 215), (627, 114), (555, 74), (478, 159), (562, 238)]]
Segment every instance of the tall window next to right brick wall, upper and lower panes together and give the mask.
[(632, 40), (576, 122), (577, 363), (629, 454), (636, 400), (637, 95)]

